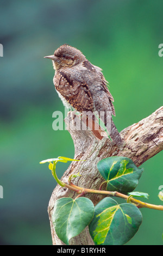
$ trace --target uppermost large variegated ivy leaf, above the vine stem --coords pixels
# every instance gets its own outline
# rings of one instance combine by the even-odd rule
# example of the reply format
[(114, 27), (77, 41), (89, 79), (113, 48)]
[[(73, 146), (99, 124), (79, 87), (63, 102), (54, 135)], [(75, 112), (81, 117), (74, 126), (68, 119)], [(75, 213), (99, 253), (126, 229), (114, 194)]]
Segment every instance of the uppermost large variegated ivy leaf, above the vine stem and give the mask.
[(143, 168), (123, 156), (112, 156), (98, 162), (97, 168), (107, 181), (108, 191), (128, 193), (135, 189), (141, 177)]

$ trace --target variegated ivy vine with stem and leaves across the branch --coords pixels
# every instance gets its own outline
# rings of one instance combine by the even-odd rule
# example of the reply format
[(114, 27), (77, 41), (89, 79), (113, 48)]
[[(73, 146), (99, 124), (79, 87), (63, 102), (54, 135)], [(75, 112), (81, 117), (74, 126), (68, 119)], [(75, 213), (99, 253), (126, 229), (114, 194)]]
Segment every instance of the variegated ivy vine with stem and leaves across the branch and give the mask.
[[(49, 162), (49, 169), (60, 186), (78, 193), (75, 199), (58, 199), (53, 209), (55, 232), (66, 245), (87, 225), (95, 245), (124, 245), (136, 234), (142, 223), (140, 208), (163, 210), (163, 205), (148, 204), (134, 198), (148, 199), (149, 196), (147, 193), (133, 192), (143, 168), (137, 167), (131, 159), (112, 156), (99, 161), (97, 168), (105, 180), (99, 186), (99, 190), (74, 185), (72, 179), (80, 176), (79, 173), (70, 175), (67, 184), (59, 180), (55, 171), (56, 164), (67, 161), (80, 160), (60, 156), (57, 159), (40, 162)], [(102, 190), (104, 186), (106, 190)], [(89, 198), (84, 197), (87, 193), (103, 194), (106, 197), (94, 206)], [(111, 197), (122, 198), (127, 203), (118, 204)], [(160, 193), (159, 198), (162, 200)]]

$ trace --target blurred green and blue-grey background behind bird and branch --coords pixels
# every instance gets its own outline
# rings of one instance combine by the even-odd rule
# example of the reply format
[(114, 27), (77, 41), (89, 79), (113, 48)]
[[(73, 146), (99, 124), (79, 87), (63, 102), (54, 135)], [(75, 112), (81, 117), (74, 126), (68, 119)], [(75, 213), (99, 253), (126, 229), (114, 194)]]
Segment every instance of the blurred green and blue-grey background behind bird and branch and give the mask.
[[(162, 11), (162, 0), (0, 1), (1, 245), (52, 245), (47, 206), (56, 183), (39, 162), (74, 156), (70, 134), (52, 129), (52, 113), (64, 106), (43, 56), (67, 43), (100, 66), (121, 131), (162, 105)], [(67, 167), (58, 163), (59, 177)], [(161, 204), (162, 153), (143, 167), (136, 191)], [(143, 223), (127, 245), (162, 245), (162, 212), (141, 212)]]

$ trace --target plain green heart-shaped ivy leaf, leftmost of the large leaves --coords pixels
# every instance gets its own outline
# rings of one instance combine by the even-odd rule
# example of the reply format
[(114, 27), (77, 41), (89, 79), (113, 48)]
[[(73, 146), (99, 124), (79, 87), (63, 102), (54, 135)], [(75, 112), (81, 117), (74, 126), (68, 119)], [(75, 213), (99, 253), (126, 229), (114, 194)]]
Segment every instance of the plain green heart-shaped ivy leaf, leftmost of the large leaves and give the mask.
[(72, 237), (79, 235), (89, 225), (94, 209), (92, 201), (85, 197), (76, 200), (58, 199), (54, 205), (52, 218), (59, 239), (68, 245)]

